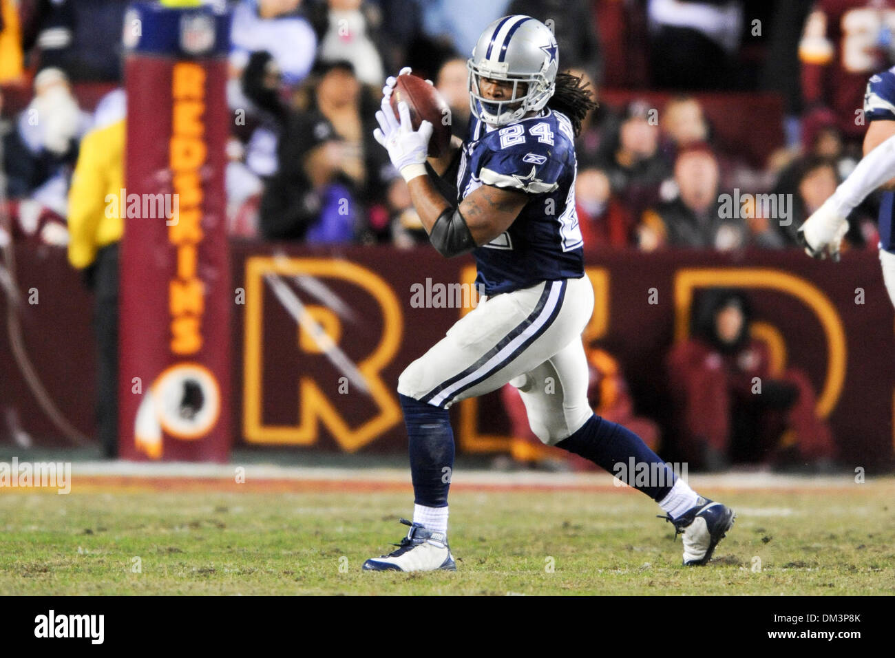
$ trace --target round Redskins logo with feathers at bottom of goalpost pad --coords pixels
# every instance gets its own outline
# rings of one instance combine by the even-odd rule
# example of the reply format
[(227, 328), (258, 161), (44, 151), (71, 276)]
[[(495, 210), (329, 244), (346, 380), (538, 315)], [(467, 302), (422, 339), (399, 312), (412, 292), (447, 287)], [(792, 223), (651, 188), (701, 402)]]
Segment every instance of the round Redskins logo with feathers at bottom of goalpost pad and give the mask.
[(171, 366), (152, 383), (137, 410), (137, 449), (160, 459), (164, 434), (200, 439), (217, 423), (220, 410), (220, 389), (208, 368), (199, 363)]

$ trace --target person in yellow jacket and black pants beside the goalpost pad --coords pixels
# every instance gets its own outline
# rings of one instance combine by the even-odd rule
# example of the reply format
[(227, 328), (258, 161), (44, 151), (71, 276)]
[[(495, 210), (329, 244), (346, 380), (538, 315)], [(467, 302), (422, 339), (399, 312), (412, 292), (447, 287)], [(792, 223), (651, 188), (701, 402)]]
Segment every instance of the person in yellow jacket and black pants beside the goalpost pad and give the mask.
[(106, 457), (118, 454), (118, 242), (124, 233), (118, 199), (124, 188), (124, 91), (107, 95), (81, 141), (69, 192), (68, 260), (94, 295), (97, 343), (97, 428)]

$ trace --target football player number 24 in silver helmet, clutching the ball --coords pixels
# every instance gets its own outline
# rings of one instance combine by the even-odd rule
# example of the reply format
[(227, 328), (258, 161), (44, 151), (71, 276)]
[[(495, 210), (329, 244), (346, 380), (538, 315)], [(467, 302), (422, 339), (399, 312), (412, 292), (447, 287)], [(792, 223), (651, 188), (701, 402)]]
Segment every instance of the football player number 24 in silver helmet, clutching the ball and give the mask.
[[(609, 472), (631, 463), (658, 477), (626, 483), (659, 503), (684, 535), (684, 564), (704, 564), (734, 513), (700, 497), (633, 432), (593, 414), (581, 334), (593, 312), (575, 216), (575, 133), (592, 109), (580, 79), (558, 73), (550, 29), (505, 16), (482, 32), (467, 63), (473, 118), (451, 153), (426, 153), (432, 126), (413, 131), (409, 109), (377, 113), (377, 141), (405, 177), (413, 206), (444, 256), (472, 252), (482, 301), (398, 379), (413, 480), (413, 522), (396, 551), (365, 570), (456, 569), (447, 543), (447, 491), (454, 467), (448, 408), (458, 400), (519, 389), (529, 423), (548, 445)], [(439, 176), (456, 181), (447, 199)], [(453, 186), (452, 186), (453, 188)]]

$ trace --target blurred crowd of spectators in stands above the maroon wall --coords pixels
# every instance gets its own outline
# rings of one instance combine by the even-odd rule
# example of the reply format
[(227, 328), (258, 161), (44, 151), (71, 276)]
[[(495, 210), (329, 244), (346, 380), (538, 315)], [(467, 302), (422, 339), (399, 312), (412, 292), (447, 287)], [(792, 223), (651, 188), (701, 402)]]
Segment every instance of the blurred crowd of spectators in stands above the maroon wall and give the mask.
[[(895, 64), (895, 0), (216, 2), (233, 10), (226, 194), (237, 238), (427, 244), (372, 138), (383, 82), (405, 65), (432, 80), (465, 137), (465, 61), (490, 21), (524, 13), (554, 30), (560, 69), (600, 101), (576, 144), (585, 245), (791, 247), (861, 156), (867, 78)], [(122, 33), (127, 4), (0, 0), (0, 191), (13, 218), (0, 244), (69, 243), (72, 171), (91, 131), (105, 131), (97, 150), (123, 158), (109, 142), (124, 137), (108, 126), (125, 102), (122, 48), (109, 35)], [(876, 248), (878, 204), (850, 218), (847, 248)], [(72, 264), (89, 270), (93, 259)], [(805, 408), (802, 383), (780, 385), (780, 409)], [(630, 414), (624, 395), (613, 399), (613, 413)], [(712, 419), (694, 431), (706, 463), (723, 458), (718, 437), (736, 433)], [(826, 445), (827, 430), (812, 432)]]

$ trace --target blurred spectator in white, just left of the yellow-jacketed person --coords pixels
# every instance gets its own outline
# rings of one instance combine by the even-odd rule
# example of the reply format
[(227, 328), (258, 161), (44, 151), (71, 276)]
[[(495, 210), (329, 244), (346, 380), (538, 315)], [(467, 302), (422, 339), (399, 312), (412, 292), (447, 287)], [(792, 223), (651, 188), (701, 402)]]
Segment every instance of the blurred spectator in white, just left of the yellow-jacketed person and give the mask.
[(64, 216), (78, 141), (90, 122), (61, 70), (38, 73), (34, 98), (16, 118), (15, 129), (4, 136), (8, 194), (39, 201)]

